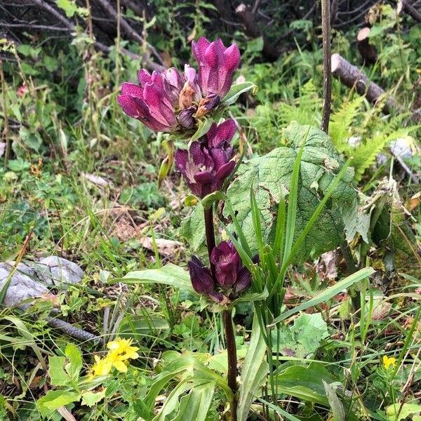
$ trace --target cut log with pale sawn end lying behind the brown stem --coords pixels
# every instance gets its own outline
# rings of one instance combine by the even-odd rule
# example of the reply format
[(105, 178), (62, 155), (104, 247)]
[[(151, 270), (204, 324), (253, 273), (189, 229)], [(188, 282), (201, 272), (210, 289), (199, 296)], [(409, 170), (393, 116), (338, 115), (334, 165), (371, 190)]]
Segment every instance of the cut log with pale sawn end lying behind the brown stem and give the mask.
[[(356, 91), (360, 95), (366, 95), (367, 100), (373, 104), (385, 95), (385, 91), (377, 83), (368, 81), (366, 74), (338, 53), (332, 55), (331, 69), (333, 76), (340, 79), (348, 88), (354, 88), (355, 86)], [(396, 107), (394, 98), (390, 97), (386, 102), (385, 111), (390, 112), (390, 109), (393, 108), (399, 107)]]

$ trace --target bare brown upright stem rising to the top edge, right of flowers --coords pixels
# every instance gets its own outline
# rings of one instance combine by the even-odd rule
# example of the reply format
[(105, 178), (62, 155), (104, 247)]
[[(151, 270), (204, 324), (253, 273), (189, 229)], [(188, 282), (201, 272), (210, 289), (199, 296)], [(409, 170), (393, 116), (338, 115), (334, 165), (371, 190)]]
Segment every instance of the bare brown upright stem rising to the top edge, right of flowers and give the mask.
[(330, 70), (330, 0), (321, 0), (321, 33), (323, 36), (323, 116), (321, 130), (328, 133), (332, 74)]

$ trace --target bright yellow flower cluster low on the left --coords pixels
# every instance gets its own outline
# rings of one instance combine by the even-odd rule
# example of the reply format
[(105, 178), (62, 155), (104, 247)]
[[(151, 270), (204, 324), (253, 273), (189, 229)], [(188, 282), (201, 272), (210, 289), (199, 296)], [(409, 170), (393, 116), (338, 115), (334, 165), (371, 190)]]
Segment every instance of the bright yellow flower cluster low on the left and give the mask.
[(89, 377), (91, 379), (107, 375), (112, 368), (126, 373), (127, 367), (130, 365), (131, 359), (137, 359), (139, 357), (138, 347), (132, 347), (131, 339), (116, 338), (111, 342), (107, 343), (109, 352), (104, 358), (100, 358), (98, 355), (94, 356), (95, 363), (91, 367)]

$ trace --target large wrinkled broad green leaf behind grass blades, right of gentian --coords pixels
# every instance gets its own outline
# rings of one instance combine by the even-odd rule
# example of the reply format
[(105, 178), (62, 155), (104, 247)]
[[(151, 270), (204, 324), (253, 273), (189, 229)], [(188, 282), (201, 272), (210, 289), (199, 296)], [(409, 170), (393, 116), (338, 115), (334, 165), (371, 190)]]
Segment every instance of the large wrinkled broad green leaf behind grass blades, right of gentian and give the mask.
[[(277, 205), (281, 198), (286, 199), (288, 196), (294, 162), (302, 143), (305, 142), (298, 187), (294, 234), (296, 240), (344, 163), (326, 133), (317, 128), (309, 129), (309, 126), (291, 123), (284, 131), (284, 136), (285, 146), (242, 163), (227, 192), (241, 229), (250, 248), (254, 250), (257, 249), (257, 244), (250, 211), (251, 189), (255, 192), (262, 218), (262, 234), (265, 240), (270, 240), (269, 234), (275, 220), (272, 209), (277, 207), (274, 204)], [(343, 241), (344, 223), (340, 211), (351, 206), (356, 197), (356, 191), (352, 187), (353, 175), (352, 168), (348, 168), (330, 201), (310, 229), (295, 260), (303, 260), (309, 255), (320, 255)]]

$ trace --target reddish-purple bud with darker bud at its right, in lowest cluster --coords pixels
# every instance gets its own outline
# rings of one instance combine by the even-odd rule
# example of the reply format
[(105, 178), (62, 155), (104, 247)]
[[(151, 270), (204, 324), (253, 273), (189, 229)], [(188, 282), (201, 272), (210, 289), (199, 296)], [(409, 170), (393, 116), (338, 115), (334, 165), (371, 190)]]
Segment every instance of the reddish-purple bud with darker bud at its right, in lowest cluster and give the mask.
[(235, 293), (241, 293), (250, 287), (251, 274), (243, 267), (232, 241), (222, 241), (215, 247), (210, 261), (215, 265), (216, 281), (223, 290), (233, 288)]

